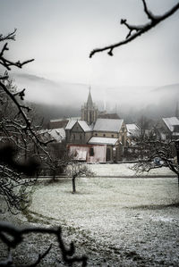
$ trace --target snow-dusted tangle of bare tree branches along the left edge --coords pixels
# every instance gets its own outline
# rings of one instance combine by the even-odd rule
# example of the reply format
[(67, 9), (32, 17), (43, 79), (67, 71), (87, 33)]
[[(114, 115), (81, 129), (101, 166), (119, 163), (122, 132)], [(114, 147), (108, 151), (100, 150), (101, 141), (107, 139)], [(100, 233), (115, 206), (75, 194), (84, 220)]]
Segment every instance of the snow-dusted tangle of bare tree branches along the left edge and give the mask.
[[(15, 32), (16, 29), (5, 36), (0, 35), (0, 44), (5, 42), (0, 51), (0, 64), (4, 68), (0, 74), (0, 196), (13, 213), (26, 204), (25, 191), (32, 184), (32, 179), (28, 177), (38, 171), (39, 151), (43, 151), (44, 157), (48, 156), (45, 146), (51, 142), (38, 138), (30, 107), (24, 104), (25, 89), (18, 90), (7, 72), (12, 67), (22, 68), (33, 61), (13, 62), (7, 59), (7, 41), (15, 40)], [(36, 153), (33, 153), (32, 145), (36, 147)]]

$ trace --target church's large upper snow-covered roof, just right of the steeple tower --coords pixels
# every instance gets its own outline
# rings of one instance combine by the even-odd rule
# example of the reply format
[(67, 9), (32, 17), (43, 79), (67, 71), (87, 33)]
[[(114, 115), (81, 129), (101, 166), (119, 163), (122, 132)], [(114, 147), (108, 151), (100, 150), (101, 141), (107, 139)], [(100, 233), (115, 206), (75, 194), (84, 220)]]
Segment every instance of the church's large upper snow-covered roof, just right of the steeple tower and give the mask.
[(98, 119), (93, 130), (119, 132), (124, 120)]

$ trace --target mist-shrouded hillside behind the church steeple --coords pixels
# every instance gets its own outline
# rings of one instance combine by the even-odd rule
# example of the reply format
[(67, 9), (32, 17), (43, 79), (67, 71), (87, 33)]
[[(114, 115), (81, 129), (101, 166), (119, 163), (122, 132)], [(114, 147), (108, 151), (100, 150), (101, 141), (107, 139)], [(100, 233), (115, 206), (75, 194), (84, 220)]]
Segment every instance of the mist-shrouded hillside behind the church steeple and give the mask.
[[(87, 101), (89, 85), (53, 81), (30, 74), (13, 73), (14, 83), (27, 88), (26, 100), (36, 105), (47, 120), (79, 116)], [(118, 113), (126, 121), (136, 121), (141, 114), (151, 118), (174, 116), (179, 101), (179, 84), (159, 88), (105, 87), (91, 85), (93, 101), (99, 110)]]

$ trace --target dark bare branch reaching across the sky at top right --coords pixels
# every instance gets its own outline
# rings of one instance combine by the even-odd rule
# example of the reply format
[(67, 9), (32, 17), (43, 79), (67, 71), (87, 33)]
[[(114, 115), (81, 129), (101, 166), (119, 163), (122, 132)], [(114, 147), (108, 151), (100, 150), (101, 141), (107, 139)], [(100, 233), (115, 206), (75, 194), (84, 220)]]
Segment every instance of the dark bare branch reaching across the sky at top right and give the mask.
[(179, 3), (175, 4), (170, 10), (168, 10), (166, 13), (162, 15), (155, 15), (149, 11), (149, 8), (146, 4), (145, 0), (141, 0), (143, 3), (144, 7), (144, 13), (146, 13), (149, 22), (147, 22), (144, 25), (131, 25), (127, 22), (126, 19), (121, 20), (121, 24), (124, 24), (127, 29), (129, 29), (129, 32), (126, 36), (126, 38), (122, 41), (119, 41), (115, 44), (104, 46), (101, 48), (96, 48), (90, 52), (90, 57), (92, 57), (94, 54), (103, 52), (103, 51), (108, 51), (107, 54), (113, 56), (113, 51), (116, 47), (119, 46), (124, 46), (130, 42), (132, 42), (135, 38), (140, 37), (142, 34), (146, 33), (150, 29), (156, 27), (160, 22), (166, 20), (168, 17), (173, 15), (177, 10), (179, 10)]

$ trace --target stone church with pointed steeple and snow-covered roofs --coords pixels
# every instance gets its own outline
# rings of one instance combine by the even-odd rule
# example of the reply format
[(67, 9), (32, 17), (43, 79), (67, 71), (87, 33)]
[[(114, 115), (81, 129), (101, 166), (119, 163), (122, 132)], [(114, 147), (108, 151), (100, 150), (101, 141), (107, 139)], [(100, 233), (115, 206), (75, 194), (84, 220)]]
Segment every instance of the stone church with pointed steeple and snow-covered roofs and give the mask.
[(81, 106), (81, 120), (70, 120), (65, 127), (66, 144), (77, 160), (116, 162), (123, 160), (127, 129), (123, 119), (100, 118), (91, 92)]

